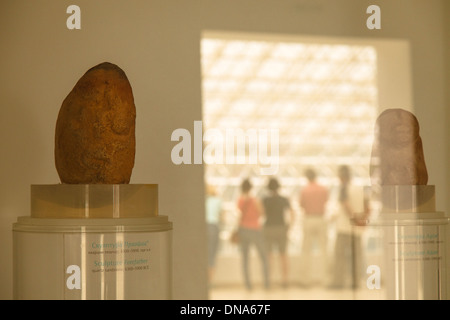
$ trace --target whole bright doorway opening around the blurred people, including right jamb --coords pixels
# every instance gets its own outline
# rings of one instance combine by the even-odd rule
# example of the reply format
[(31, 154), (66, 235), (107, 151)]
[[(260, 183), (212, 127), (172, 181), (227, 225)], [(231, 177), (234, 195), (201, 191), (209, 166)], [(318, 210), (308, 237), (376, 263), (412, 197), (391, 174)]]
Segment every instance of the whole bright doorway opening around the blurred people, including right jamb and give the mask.
[[(298, 197), (307, 182), (305, 170), (315, 169), (319, 182), (329, 187), (329, 214), (337, 201), (339, 165), (351, 167), (356, 184), (370, 184), (373, 129), (379, 112), (393, 107), (399, 97), (403, 104), (396, 107), (411, 108), (408, 49), (401, 42), (204, 34), (203, 129), (223, 133), (277, 131), (278, 166), (274, 176), (281, 183), (280, 193), (289, 198), (296, 213), (288, 242), (291, 264), (301, 254)], [(401, 69), (395, 76), (400, 80), (390, 75), (392, 65)], [(394, 97), (387, 88), (392, 83), (397, 83), (397, 88), (397, 81), (403, 81), (402, 88)], [(251, 141), (243, 144), (249, 157)], [(204, 146), (208, 148), (208, 141)], [(260, 163), (245, 160), (205, 164), (205, 182), (216, 189), (224, 211), (212, 280), (217, 285), (242, 283), (239, 248), (230, 242), (230, 236), (237, 224), (236, 200), (242, 180), (252, 179), (257, 196), (266, 192), (269, 176), (262, 175), (260, 169)], [(329, 234), (332, 250), (333, 226)], [(253, 265), (255, 274), (260, 273), (258, 262)], [(294, 274), (291, 278), (296, 281)]]

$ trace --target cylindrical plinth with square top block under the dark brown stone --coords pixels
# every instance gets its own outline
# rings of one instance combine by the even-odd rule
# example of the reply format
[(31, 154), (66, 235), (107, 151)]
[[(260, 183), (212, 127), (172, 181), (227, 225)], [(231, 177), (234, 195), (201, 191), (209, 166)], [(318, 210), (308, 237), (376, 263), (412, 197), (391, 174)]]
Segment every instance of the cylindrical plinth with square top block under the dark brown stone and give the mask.
[(170, 299), (172, 224), (157, 185), (31, 187), (13, 225), (15, 299)]

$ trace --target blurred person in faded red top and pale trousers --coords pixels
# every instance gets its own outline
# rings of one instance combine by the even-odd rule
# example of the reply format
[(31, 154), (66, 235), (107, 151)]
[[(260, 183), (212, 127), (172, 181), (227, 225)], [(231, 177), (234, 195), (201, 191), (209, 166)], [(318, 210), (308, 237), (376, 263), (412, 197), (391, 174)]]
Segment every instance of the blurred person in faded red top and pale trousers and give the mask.
[[(313, 249), (318, 248), (321, 258), (320, 279), (325, 281), (325, 270), (328, 266), (328, 223), (325, 218), (326, 205), (328, 202), (328, 188), (316, 181), (316, 172), (307, 169), (305, 176), (307, 185), (300, 191), (299, 204), (303, 210), (303, 245), (301, 251), (301, 262), (303, 266), (302, 284), (309, 286), (312, 283), (312, 261)], [(317, 271), (317, 269), (316, 269)]]

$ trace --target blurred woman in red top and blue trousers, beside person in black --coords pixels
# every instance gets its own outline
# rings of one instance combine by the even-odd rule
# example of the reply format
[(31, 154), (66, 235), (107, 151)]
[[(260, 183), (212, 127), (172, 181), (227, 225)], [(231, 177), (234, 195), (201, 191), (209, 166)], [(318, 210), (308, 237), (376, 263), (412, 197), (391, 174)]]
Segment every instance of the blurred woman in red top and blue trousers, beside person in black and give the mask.
[(241, 184), (241, 195), (237, 202), (240, 212), (239, 245), (242, 252), (244, 281), (246, 288), (251, 290), (252, 283), (249, 274), (249, 253), (251, 247), (254, 246), (261, 260), (264, 287), (268, 289), (270, 287), (269, 266), (261, 224), (261, 220), (264, 216), (264, 209), (261, 202), (250, 194), (251, 189), (252, 184), (248, 179), (245, 179)]

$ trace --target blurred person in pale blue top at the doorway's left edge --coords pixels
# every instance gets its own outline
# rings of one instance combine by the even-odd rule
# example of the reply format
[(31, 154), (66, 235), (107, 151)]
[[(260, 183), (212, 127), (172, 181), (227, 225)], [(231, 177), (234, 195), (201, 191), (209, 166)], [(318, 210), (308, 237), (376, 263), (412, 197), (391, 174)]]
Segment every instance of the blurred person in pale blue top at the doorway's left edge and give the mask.
[(217, 195), (216, 188), (212, 185), (206, 187), (206, 225), (208, 235), (208, 278), (211, 283), (215, 266), (217, 251), (219, 248), (220, 221), (222, 215), (222, 199)]

